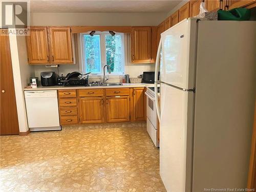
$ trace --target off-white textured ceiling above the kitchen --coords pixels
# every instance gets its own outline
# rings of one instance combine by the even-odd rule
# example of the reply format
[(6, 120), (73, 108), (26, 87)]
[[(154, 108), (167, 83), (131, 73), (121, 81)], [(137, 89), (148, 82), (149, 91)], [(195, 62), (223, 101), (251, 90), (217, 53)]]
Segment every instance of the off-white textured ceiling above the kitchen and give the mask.
[(32, 13), (167, 13), (181, 1), (31, 0)]

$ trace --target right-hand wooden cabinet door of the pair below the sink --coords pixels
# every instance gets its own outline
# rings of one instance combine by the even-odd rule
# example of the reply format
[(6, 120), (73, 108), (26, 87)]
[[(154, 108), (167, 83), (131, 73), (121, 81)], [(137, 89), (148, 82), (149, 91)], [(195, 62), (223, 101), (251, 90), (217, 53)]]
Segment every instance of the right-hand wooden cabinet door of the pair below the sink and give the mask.
[(106, 122), (123, 122), (129, 120), (129, 96), (106, 97)]

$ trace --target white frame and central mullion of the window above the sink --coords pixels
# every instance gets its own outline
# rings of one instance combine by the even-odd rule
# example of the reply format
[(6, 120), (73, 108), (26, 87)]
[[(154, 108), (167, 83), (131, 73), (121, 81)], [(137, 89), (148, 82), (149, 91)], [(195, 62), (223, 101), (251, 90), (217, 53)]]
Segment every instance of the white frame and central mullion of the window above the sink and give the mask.
[[(83, 35), (89, 35), (90, 32), (87, 33), (80, 33), (80, 42), (81, 42), (81, 71), (82, 73), (87, 73), (86, 70), (86, 55), (84, 54), (85, 52), (85, 47), (84, 47), (84, 37)], [(103, 66), (106, 65), (106, 47), (105, 47), (105, 36), (106, 35), (110, 35), (109, 32), (95, 32), (94, 35), (100, 35), (100, 64), (101, 64), (101, 72), (100, 73), (91, 73), (91, 76), (94, 77), (101, 77), (103, 76)], [(124, 37), (124, 33), (116, 33), (116, 35), (121, 35), (121, 40), (122, 40), (122, 54), (123, 54), (123, 59), (122, 59), (122, 69), (123, 72), (111, 72), (111, 74), (108, 74), (109, 76), (123, 76), (125, 74), (126, 71), (126, 67), (125, 67), (125, 61), (127, 59), (127, 54), (125, 51), (125, 47), (126, 47), (126, 41), (125, 41), (125, 37)]]

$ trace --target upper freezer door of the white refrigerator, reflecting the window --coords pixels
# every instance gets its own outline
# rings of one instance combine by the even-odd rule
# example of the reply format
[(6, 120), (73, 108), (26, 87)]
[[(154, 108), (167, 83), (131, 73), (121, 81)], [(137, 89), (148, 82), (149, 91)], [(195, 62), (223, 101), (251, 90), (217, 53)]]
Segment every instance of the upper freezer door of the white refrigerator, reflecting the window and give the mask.
[(197, 21), (186, 19), (161, 34), (161, 81), (183, 89), (194, 88)]

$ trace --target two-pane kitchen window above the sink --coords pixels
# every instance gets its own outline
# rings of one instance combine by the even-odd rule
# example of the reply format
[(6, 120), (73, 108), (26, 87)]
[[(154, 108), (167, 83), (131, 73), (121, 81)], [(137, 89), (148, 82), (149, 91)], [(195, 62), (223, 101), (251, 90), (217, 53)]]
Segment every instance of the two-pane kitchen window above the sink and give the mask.
[(81, 34), (82, 72), (92, 72), (92, 75), (103, 75), (103, 66), (109, 65), (110, 75), (124, 74), (124, 34), (95, 32)]

